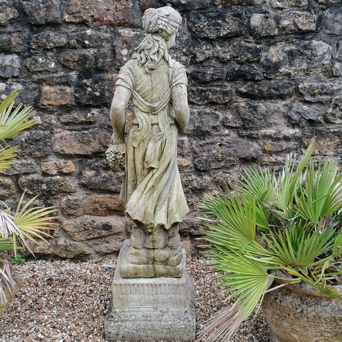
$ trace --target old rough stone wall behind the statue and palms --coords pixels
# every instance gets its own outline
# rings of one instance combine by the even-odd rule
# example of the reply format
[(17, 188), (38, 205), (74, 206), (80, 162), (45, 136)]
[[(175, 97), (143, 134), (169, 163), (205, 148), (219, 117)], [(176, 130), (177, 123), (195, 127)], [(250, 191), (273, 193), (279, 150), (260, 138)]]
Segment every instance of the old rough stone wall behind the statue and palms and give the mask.
[(38, 255), (99, 257), (129, 236), (123, 173), (104, 155), (109, 106), (144, 10), (167, 2), (184, 19), (172, 55), (189, 77), (183, 240), (198, 236), (198, 200), (246, 166), (278, 170), (311, 142), (317, 159), (341, 163), (341, 0), (0, 0), (0, 94), (18, 89), (41, 120), (16, 139), (0, 196), (14, 205), (26, 191), (58, 207), (55, 239)]

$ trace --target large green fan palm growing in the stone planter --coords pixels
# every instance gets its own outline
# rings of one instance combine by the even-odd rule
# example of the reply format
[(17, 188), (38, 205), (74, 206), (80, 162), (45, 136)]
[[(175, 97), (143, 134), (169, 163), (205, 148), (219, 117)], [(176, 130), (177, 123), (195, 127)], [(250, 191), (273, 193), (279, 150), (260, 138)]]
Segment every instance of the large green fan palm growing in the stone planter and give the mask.
[(312, 153), (308, 146), (298, 165), (289, 155), (279, 176), (250, 168), (233, 191), (199, 204), (210, 259), (222, 272), (218, 286), (229, 285), (223, 292), (236, 299), (208, 322), (206, 341), (231, 337), (272, 291), (274, 278), (340, 298), (326, 278), (342, 274), (342, 173), (329, 159), (315, 167)]

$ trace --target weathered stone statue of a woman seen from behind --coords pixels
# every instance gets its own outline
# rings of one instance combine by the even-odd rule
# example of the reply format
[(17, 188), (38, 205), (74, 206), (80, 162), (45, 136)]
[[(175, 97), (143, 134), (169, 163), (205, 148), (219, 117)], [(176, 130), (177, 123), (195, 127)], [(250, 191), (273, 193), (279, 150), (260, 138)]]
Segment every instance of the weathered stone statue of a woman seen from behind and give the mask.
[[(176, 161), (177, 133), (189, 120), (185, 68), (168, 54), (182, 18), (171, 7), (149, 9), (146, 36), (118, 74), (111, 104), (112, 150), (126, 153), (121, 198), (132, 224), (123, 278), (181, 276), (179, 223), (189, 212)], [(125, 111), (134, 119), (124, 143)], [(120, 158), (119, 158), (120, 159)]]

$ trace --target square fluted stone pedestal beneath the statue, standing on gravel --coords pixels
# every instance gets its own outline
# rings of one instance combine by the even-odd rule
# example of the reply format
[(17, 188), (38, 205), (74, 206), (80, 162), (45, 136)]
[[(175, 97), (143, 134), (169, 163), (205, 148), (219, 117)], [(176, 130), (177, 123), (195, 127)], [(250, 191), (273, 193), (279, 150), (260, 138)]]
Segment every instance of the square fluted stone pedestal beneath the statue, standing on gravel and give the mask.
[(122, 278), (122, 252), (114, 273), (107, 341), (193, 341), (196, 339), (194, 284), (185, 269), (181, 278)]

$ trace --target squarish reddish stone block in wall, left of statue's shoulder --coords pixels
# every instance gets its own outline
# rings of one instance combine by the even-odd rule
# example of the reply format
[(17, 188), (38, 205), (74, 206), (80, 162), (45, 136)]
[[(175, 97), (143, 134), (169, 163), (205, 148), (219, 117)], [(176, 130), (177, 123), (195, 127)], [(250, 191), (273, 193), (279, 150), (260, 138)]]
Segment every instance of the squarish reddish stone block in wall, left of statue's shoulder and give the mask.
[(44, 86), (42, 88), (42, 97), (40, 105), (42, 107), (63, 107), (70, 106), (73, 103), (72, 89), (69, 87)]

